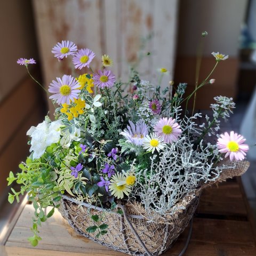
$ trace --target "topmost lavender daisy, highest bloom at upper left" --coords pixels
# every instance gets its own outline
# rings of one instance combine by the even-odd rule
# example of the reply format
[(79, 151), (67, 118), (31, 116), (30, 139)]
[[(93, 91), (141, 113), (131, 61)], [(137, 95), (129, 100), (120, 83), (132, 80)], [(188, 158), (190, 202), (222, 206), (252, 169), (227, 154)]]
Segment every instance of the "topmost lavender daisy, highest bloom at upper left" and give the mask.
[(52, 49), (52, 53), (54, 57), (62, 60), (63, 58), (67, 58), (68, 55), (74, 55), (77, 51), (77, 46), (71, 41), (62, 41), (61, 43), (57, 43)]

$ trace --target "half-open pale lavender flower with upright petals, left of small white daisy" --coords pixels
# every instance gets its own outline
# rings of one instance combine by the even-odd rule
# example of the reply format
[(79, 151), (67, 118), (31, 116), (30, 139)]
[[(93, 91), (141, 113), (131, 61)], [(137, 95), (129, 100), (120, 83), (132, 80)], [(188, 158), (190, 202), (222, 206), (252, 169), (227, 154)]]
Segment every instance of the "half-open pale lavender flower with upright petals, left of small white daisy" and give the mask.
[(127, 140), (126, 142), (131, 142), (134, 145), (141, 146), (144, 138), (148, 135), (148, 127), (143, 120), (140, 120), (136, 123), (136, 126), (133, 122), (129, 121), (127, 125), (127, 131), (124, 130), (122, 134)]

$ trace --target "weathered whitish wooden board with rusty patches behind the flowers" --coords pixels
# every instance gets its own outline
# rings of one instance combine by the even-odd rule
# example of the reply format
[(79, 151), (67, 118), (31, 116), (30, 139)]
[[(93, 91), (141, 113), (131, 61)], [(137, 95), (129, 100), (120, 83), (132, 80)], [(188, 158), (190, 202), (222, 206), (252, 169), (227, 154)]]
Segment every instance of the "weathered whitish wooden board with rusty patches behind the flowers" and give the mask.
[(101, 55), (109, 54), (115, 75), (127, 81), (128, 62), (138, 60), (141, 38), (153, 34), (145, 48), (151, 55), (141, 61), (140, 73), (155, 82), (156, 69), (165, 67), (170, 75), (163, 87), (172, 79), (177, 0), (34, 0), (33, 5), (46, 87), (63, 72), (72, 72), (71, 58), (58, 62), (51, 53), (65, 39), (97, 54), (93, 70), (100, 67)]

